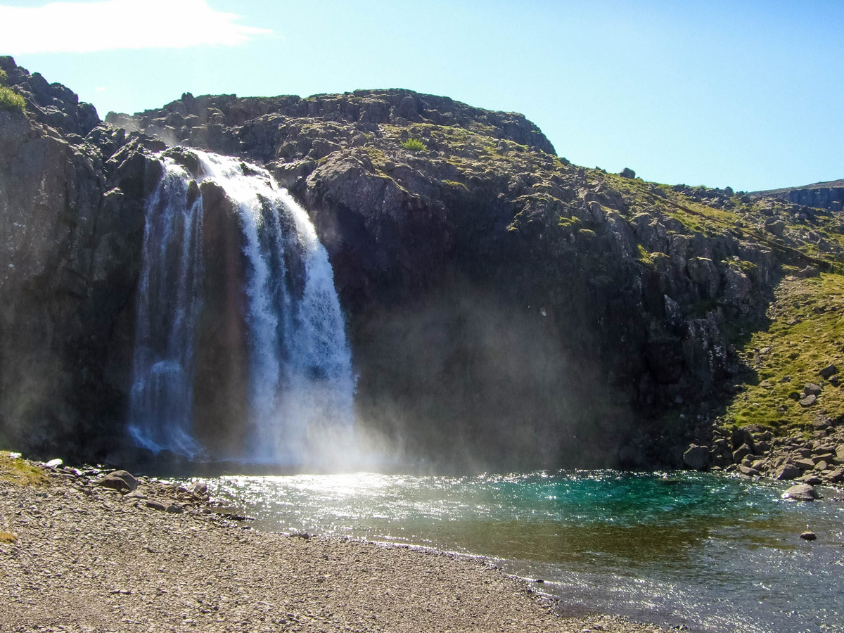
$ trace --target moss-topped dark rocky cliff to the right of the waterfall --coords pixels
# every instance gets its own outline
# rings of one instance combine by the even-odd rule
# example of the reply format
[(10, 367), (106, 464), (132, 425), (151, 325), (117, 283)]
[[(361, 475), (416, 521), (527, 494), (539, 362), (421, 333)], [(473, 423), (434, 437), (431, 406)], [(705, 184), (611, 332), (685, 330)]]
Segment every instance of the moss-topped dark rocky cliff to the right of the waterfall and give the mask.
[(679, 464), (740, 371), (727, 324), (814, 262), (733, 192), (584, 170), (521, 116), (440, 97), (183, 95), (108, 120), (260, 162), (306, 204), (360, 419), (440, 463)]

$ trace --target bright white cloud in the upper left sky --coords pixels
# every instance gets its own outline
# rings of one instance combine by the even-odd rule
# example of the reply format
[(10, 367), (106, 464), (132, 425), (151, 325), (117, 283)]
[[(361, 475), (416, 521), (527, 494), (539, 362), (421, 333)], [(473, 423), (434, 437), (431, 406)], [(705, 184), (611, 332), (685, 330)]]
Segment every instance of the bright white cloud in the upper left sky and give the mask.
[(206, 0), (99, 0), (25, 8), (0, 5), (0, 54), (236, 46), (272, 32), (235, 24), (239, 18), (214, 11)]

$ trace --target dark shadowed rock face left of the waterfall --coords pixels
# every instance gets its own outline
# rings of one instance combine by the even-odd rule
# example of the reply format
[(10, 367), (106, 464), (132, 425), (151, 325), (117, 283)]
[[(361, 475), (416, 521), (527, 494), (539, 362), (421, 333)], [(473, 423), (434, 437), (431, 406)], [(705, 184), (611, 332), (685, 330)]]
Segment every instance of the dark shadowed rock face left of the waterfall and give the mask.
[(9, 57), (0, 68), (27, 100), (0, 112), (0, 434), (24, 451), (101, 457), (122, 441), (157, 164), (60, 84)]

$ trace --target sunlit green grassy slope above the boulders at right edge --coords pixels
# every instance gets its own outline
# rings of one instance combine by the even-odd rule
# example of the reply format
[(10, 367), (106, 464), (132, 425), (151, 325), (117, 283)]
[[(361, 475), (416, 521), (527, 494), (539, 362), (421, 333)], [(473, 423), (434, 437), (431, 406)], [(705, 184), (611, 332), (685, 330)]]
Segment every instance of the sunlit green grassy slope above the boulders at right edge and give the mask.
[[(819, 415), (844, 411), (844, 386), (818, 373), (832, 364), (844, 374), (842, 313), (844, 276), (784, 280), (768, 313), (770, 327), (751, 334), (738, 350), (755, 379), (730, 403), (725, 421), (787, 430), (808, 428)], [(823, 391), (816, 404), (804, 408), (796, 396), (807, 382)]]

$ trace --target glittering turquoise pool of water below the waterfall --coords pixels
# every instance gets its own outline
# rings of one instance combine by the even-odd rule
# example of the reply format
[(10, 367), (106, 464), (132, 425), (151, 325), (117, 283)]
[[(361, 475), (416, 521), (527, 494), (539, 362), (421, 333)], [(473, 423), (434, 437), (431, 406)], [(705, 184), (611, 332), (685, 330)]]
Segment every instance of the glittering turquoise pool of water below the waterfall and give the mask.
[[(543, 578), (564, 609), (727, 633), (844, 631), (844, 504), (699, 473), (225, 477), (256, 527), (415, 544)], [(834, 495), (834, 491), (830, 490)], [(811, 525), (818, 540), (801, 541)]]

